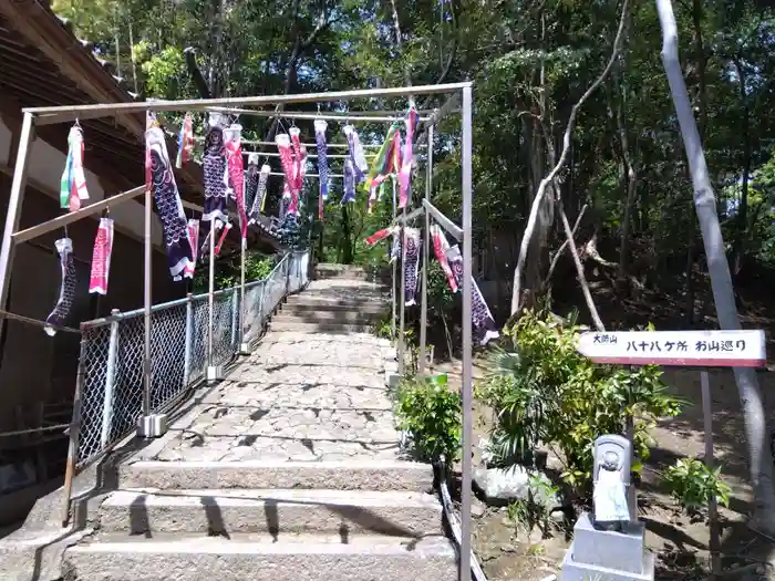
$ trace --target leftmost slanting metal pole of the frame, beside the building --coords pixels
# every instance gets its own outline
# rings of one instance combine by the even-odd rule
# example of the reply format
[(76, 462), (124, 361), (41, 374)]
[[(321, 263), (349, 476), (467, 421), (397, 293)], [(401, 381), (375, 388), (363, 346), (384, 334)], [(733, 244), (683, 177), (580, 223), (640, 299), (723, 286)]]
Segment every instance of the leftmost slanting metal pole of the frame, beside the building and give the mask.
[[(24, 189), (27, 188), (27, 167), (29, 153), (34, 139), (34, 117), (32, 113), (24, 113), (21, 124), (21, 135), (19, 137), (19, 151), (17, 152), (17, 163), (13, 169), (13, 181), (11, 183), (11, 194), (8, 199), (8, 210), (6, 211), (6, 229), (2, 232), (2, 247), (0, 248), (0, 309), (6, 308), (10, 290), (11, 272), (13, 270), (13, 232), (19, 229), (19, 219), (24, 203)], [(6, 321), (0, 322), (2, 328)]]

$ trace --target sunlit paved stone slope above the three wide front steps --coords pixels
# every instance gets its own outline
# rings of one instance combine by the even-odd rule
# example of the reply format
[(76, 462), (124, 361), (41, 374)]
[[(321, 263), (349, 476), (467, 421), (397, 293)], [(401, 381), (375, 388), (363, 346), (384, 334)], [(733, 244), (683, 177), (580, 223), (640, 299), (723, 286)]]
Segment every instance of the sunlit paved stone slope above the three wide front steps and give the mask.
[(369, 334), (270, 331), (195, 417), (172, 426), (156, 459), (397, 459), (384, 382), (392, 359), (389, 342)]

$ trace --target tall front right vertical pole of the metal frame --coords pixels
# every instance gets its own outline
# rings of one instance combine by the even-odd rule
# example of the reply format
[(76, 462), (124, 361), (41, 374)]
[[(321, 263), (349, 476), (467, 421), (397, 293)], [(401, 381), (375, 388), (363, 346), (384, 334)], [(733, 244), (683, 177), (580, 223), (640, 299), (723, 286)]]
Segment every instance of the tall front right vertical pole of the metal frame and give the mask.
[(472, 87), (463, 87), (463, 489), (461, 491), (461, 581), (471, 581), (471, 471), (474, 407), (472, 390)]

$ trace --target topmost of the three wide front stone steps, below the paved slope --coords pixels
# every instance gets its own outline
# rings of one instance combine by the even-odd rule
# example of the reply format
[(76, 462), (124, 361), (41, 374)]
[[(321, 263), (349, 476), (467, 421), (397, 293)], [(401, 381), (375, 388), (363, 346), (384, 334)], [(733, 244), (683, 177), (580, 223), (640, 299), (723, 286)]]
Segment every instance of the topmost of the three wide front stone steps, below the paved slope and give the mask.
[(375, 459), (344, 461), (162, 461), (120, 467), (121, 488), (306, 488), (327, 490), (412, 490), (433, 486), (430, 464)]

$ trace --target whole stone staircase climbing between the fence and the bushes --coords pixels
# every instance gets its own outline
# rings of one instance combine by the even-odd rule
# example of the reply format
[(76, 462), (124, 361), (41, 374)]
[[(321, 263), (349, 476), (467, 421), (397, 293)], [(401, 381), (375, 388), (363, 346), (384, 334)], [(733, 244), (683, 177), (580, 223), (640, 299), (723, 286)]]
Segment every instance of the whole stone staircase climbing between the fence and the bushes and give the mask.
[(252, 355), (118, 469), (68, 581), (457, 578), (433, 473), (400, 452), (385, 308), (356, 269), (320, 267)]

